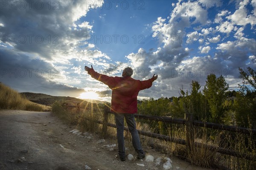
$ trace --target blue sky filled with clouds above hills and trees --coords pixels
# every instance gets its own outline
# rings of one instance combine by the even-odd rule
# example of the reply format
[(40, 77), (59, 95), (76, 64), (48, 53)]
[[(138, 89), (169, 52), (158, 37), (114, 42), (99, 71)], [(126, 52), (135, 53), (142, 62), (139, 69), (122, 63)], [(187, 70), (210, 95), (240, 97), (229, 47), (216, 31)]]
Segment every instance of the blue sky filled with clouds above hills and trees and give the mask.
[(0, 82), (19, 92), (111, 100), (108, 76), (158, 79), (138, 99), (179, 96), (192, 80), (256, 70), (255, 0), (1, 0)]

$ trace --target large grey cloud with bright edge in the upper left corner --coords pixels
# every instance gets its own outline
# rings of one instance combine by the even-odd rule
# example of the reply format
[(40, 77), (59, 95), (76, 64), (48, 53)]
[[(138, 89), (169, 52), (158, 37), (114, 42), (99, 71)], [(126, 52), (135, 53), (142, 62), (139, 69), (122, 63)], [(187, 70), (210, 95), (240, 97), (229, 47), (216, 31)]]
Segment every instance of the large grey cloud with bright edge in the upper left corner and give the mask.
[[(1, 41), (6, 46), (11, 44), (18, 51), (30, 53), (31, 58), (68, 62), (74, 57), (79, 46), (84, 45), (84, 41), (86, 43), (90, 38), (90, 23), (79, 23), (79, 19), (91, 8), (89, 1), (40, 2), (44, 6), (41, 10), (33, 5), (31, 9), (24, 10), (9, 9), (8, 6), (1, 9)], [(95, 2), (102, 4), (100, 0)], [(57, 3), (58, 8), (49, 9), (49, 3)]]

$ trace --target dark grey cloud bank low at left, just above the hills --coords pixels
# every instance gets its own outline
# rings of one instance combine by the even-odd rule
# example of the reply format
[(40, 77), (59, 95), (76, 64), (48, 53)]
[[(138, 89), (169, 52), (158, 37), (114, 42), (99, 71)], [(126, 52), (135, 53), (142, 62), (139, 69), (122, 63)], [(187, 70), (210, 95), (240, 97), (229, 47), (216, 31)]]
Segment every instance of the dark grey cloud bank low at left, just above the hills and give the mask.
[(0, 71), (1, 82), (20, 92), (44, 91), (53, 96), (76, 96), (84, 91), (61, 83), (66, 77), (51, 63), (30, 59), (26, 54), (17, 51), (1, 49)]

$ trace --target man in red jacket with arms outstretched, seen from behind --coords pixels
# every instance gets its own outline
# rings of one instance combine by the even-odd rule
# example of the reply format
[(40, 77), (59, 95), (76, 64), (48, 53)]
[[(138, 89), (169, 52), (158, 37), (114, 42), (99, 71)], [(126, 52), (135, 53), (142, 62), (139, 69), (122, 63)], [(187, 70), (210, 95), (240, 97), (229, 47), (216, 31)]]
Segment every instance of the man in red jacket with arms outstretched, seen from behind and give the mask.
[(125, 161), (124, 118), (131, 133), (133, 147), (138, 154), (137, 159), (143, 159), (145, 152), (141, 147), (140, 137), (134, 119), (134, 113), (137, 113), (137, 96), (139, 91), (150, 88), (152, 82), (158, 76), (153, 75), (151, 79), (145, 81), (136, 80), (131, 78), (133, 70), (129, 67), (124, 69), (122, 77), (109, 77), (99, 74), (94, 71), (92, 65), (91, 68), (85, 66), (84, 70), (91, 77), (103, 82), (112, 89), (111, 111), (115, 114), (118, 153), (121, 161)]

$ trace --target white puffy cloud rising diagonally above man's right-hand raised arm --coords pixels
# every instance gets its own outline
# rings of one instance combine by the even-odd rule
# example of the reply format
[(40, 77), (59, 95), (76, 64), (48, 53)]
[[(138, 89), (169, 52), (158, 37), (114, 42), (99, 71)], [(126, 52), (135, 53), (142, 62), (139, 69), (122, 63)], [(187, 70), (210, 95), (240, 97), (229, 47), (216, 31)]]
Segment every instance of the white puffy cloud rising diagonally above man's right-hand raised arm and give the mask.
[[(188, 3), (180, 2), (174, 5), (175, 8), (170, 14), (168, 23), (165, 23), (166, 19), (158, 17), (152, 26), (152, 37), (158, 38), (163, 46), (152, 52), (146, 52), (140, 48), (136, 54), (131, 53), (127, 56), (134, 68), (143, 70), (145, 77), (152, 74), (152, 66), (163, 62), (163, 68), (156, 68), (154, 71), (160, 71), (162, 79), (169, 78), (169, 74), (166, 73), (175, 69), (189, 55), (189, 51), (186, 50), (188, 48), (183, 47), (183, 39), (189, 35), (198, 34), (197, 31), (186, 34), (185, 29), (195, 23), (207, 24), (207, 10), (204, 8), (184, 8), (184, 6), (188, 6)], [(200, 3), (197, 5), (200, 6)], [(191, 18), (194, 20), (190, 21)]]

